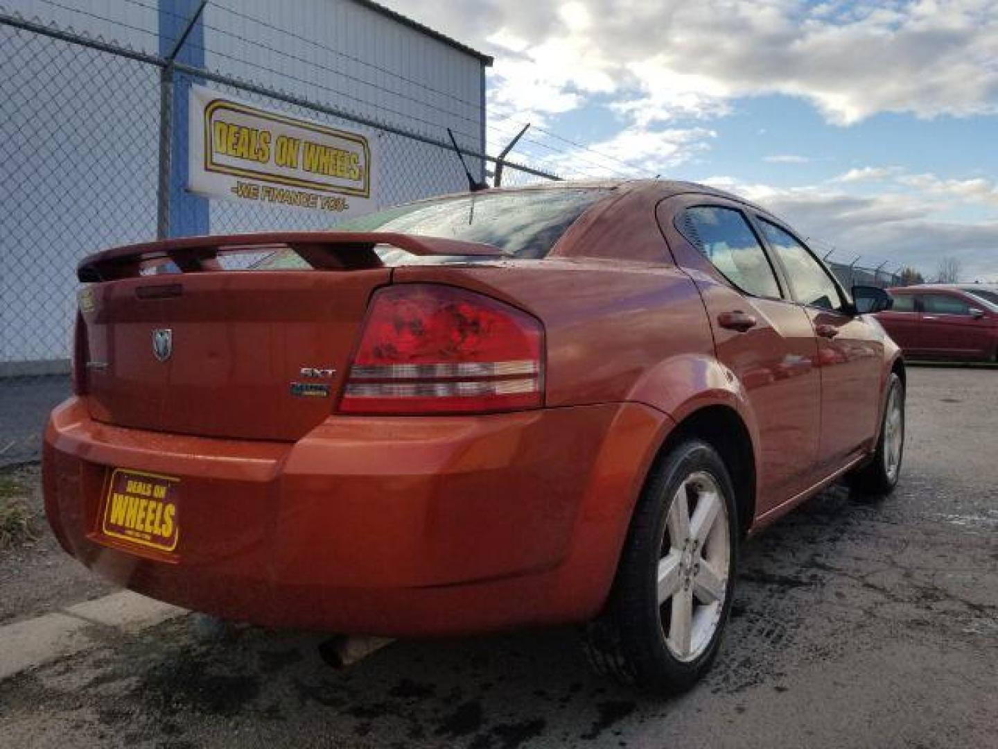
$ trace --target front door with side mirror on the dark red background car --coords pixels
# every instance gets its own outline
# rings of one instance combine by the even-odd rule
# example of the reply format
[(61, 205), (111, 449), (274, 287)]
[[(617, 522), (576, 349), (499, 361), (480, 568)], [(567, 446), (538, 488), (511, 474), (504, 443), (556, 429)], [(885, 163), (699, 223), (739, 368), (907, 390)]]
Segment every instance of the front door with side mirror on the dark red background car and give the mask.
[(922, 348), (927, 356), (978, 359), (991, 353), (992, 323), (986, 315), (974, 317), (974, 305), (966, 297), (955, 292), (922, 292), (918, 298)]

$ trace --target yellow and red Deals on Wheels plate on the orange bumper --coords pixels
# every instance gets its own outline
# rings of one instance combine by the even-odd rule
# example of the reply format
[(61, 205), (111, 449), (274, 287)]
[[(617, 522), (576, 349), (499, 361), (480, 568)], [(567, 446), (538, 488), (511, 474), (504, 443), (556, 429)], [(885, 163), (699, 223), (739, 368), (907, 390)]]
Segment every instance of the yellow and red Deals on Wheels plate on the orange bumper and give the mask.
[(153, 551), (173, 553), (180, 542), (181, 479), (113, 468), (101, 507), (101, 533)]

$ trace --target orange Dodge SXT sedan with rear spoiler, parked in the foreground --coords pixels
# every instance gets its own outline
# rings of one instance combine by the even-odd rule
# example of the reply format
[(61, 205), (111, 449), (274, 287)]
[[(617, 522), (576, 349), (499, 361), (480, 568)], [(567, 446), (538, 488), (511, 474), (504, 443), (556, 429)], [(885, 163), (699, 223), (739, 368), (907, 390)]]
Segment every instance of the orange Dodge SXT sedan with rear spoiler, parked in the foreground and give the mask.
[(596, 665), (677, 690), (718, 651), (746, 533), (840, 476), (898, 479), (897, 347), (734, 196), (560, 184), (341, 230), (80, 264), (44, 449), (69, 553), (274, 626), (586, 623)]

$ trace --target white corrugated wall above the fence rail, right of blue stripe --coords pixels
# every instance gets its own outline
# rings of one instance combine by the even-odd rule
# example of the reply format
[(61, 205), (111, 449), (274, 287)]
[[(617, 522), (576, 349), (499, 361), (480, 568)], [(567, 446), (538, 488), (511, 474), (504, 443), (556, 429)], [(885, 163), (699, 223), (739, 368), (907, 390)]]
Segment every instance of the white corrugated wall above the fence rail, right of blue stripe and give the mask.
[(213, 70), (436, 138), (450, 127), (469, 147), (483, 145), (481, 62), (439, 40), (351, 0), (226, 0), (205, 12)]

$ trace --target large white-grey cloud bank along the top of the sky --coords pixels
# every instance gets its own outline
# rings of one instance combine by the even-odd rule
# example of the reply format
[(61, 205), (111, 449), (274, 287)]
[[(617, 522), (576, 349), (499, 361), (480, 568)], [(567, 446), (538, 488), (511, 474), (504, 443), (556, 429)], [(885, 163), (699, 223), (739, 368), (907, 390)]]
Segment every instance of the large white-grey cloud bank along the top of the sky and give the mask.
[[(839, 125), (877, 112), (998, 111), (998, 0), (450, 0), (415, 12), (392, 4), (501, 53), (496, 100), (525, 98), (525, 110), (550, 102), (565, 111), (611, 92), (617, 111), (642, 127), (714, 117), (733, 99), (771, 93), (805, 99)], [(538, 81), (547, 87), (531, 91)]]

